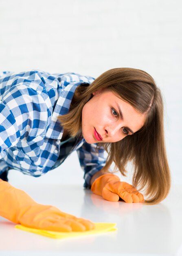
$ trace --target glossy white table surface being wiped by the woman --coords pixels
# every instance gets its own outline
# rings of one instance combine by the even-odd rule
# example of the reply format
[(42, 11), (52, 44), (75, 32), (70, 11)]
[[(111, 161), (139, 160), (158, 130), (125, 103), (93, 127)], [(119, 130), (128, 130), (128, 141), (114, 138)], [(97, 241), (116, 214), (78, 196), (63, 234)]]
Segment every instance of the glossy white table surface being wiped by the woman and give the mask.
[(182, 255), (182, 186), (160, 204), (109, 202), (80, 185), (19, 185), (39, 203), (93, 222), (116, 222), (117, 231), (65, 240), (25, 232), (0, 217), (0, 255)]

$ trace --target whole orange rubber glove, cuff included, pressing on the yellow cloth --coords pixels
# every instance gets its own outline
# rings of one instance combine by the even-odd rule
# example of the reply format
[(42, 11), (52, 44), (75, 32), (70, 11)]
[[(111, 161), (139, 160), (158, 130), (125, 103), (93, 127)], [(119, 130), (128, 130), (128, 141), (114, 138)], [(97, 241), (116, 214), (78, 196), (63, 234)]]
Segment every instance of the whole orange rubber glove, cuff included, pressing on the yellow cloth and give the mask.
[(17, 224), (50, 231), (86, 231), (94, 229), (89, 220), (76, 218), (58, 208), (37, 204), (29, 195), (0, 180), (0, 216)]

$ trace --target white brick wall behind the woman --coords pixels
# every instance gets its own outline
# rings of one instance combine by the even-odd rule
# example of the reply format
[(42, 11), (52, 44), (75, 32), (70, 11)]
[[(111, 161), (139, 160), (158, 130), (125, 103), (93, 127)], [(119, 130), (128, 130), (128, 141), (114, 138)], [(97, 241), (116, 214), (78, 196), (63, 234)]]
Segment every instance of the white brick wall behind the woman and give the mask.
[[(0, 70), (94, 77), (114, 67), (145, 70), (165, 98), (167, 154), (173, 182), (182, 183), (181, 7), (180, 0), (0, 0)], [(76, 153), (44, 177), (9, 175), (12, 184), (83, 184), (82, 176)]]

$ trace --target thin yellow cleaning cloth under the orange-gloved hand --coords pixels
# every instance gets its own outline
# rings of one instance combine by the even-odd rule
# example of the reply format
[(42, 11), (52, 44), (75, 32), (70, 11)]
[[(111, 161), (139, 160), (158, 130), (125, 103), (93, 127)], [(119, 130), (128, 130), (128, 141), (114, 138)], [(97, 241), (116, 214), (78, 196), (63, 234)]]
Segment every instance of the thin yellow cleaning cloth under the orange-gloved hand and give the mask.
[(42, 236), (48, 236), (50, 238), (64, 239), (64, 238), (71, 238), (71, 237), (75, 237), (75, 236), (86, 236), (86, 235), (105, 233), (107, 231), (115, 231), (115, 230), (117, 230), (115, 226), (116, 226), (116, 223), (95, 223), (95, 229), (92, 229), (90, 231), (83, 231), (83, 232), (48, 231), (48, 230), (44, 230), (44, 229), (32, 229), (29, 227), (24, 227), (22, 225), (15, 225), (15, 228), (22, 229), (24, 231), (29, 231), (29, 232), (39, 234)]

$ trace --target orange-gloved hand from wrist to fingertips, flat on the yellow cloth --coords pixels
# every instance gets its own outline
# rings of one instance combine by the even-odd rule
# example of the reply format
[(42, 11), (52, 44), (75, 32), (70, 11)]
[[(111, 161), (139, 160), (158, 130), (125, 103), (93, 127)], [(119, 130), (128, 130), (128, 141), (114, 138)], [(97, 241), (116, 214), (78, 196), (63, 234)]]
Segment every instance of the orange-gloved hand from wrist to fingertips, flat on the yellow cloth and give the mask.
[(70, 232), (94, 229), (94, 223), (89, 220), (64, 213), (53, 206), (37, 203), (22, 207), (18, 213), (18, 222), (26, 227), (50, 231)]

